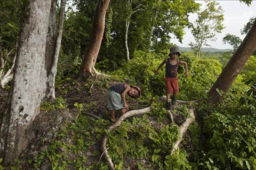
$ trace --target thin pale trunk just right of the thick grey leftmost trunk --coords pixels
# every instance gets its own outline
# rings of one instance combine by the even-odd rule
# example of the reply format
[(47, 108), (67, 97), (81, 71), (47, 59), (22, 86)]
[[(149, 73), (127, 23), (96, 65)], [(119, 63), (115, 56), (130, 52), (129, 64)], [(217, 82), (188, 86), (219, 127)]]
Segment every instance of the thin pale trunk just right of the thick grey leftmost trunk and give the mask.
[(61, 0), (61, 8), (59, 11), (59, 25), (58, 25), (57, 40), (56, 40), (56, 44), (55, 44), (53, 60), (51, 63), (51, 71), (49, 72), (49, 78), (48, 78), (49, 87), (47, 88), (47, 92), (46, 92), (47, 98), (50, 98), (50, 97), (55, 98), (55, 77), (57, 74), (59, 51), (61, 49), (61, 39), (62, 39), (62, 33), (63, 33), (65, 7), (66, 7), (66, 0)]

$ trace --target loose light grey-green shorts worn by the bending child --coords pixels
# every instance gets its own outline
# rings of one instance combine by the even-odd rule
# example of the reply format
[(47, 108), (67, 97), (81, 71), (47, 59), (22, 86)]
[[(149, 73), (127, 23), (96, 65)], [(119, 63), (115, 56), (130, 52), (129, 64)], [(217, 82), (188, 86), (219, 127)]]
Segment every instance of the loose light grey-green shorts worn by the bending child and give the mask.
[(125, 106), (123, 105), (121, 94), (113, 90), (107, 91), (107, 108), (109, 110), (119, 110), (125, 108)]

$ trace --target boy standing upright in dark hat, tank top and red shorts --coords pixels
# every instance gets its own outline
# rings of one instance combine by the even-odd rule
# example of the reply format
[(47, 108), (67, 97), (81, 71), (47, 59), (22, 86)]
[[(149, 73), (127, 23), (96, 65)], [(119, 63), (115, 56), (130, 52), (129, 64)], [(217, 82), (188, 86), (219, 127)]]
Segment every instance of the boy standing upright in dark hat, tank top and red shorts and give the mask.
[[(184, 64), (185, 66), (185, 76), (189, 76), (189, 71), (187, 68), (187, 62), (178, 60), (178, 56), (181, 56), (178, 46), (173, 46), (170, 48), (169, 53), (170, 58), (166, 58), (159, 65), (157, 70), (155, 70), (155, 75), (158, 74), (158, 70), (165, 65), (165, 95), (166, 95), (166, 106), (167, 110), (171, 109), (171, 104), (176, 104), (176, 96), (179, 93), (179, 84), (178, 84), (178, 67), (179, 64)], [(171, 96), (173, 94), (173, 96)], [(170, 102), (171, 96), (171, 102)]]

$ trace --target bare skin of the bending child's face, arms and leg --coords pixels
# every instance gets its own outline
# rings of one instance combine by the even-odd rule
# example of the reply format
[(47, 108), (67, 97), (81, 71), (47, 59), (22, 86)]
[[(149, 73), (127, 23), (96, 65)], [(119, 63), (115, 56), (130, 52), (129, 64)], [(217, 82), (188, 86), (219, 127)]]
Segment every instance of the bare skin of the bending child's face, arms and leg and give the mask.
[[(131, 96), (131, 98), (137, 98), (137, 96), (139, 96), (139, 90), (137, 90), (137, 88), (133, 88), (131, 86), (129, 86), (128, 84), (125, 84), (125, 90), (123, 90), (123, 93), (121, 94), (121, 98), (123, 100), (123, 105), (125, 106), (125, 108), (121, 109), (121, 114), (125, 114), (128, 110), (129, 110), (129, 106), (126, 102), (126, 98), (125, 96), (129, 94), (129, 96)], [(115, 122), (115, 110), (111, 110), (110, 111), (110, 115), (111, 115), (111, 120), (113, 122)]]

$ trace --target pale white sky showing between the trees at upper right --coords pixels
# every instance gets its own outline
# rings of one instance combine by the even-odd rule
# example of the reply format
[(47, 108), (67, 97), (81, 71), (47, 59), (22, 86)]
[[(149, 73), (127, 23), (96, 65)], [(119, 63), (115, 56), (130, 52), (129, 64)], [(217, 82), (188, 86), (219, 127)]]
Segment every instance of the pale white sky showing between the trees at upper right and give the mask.
[[(197, 3), (203, 3), (204, 1), (196, 1)], [(226, 49), (232, 48), (229, 44), (224, 44), (222, 39), (226, 34), (236, 35), (240, 37), (243, 41), (245, 35), (241, 35), (241, 29), (248, 23), (249, 19), (252, 17), (256, 17), (256, 1), (252, 1), (251, 5), (248, 7), (245, 3), (240, 3), (240, 1), (217, 1), (221, 8), (224, 11), (224, 21), (223, 25), (225, 29), (223, 29), (222, 33), (217, 33), (216, 38), (217, 41), (207, 43), (211, 45), (212, 48)], [(203, 5), (202, 5), (203, 6)], [(190, 21), (195, 21), (195, 15), (191, 15), (189, 17)], [(177, 44), (178, 46), (187, 47), (190, 42), (193, 42), (193, 35), (188, 29), (185, 29), (185, 36), (183, 37), (182, 44), (178, 39), (171, 39), (171, 43)], [(203, 46), (205, 47), (205, 46)]]

